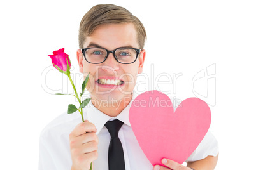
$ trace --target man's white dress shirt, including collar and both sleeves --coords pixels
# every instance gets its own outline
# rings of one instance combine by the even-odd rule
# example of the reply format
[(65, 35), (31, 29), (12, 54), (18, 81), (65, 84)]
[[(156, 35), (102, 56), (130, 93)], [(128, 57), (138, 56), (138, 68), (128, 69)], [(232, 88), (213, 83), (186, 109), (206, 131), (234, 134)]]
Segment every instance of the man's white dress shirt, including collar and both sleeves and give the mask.
[[(132, 97), (134, 100), (135, 95)], [(108, 169), (108, 146), (110, 145), (110, 133), (104, 124), (112, 119), (119, 119), (124, 122), (118, 136), (124, 149), (125, 169), (126, 170), (152, 170), (153, 166), (146, 158), (139, 147), (129, 122), (129, 108), (127, 105), (117, 117), (110, 117), (90, 102), (83, 109), (83, 116), (92, 122), (97, 129), (99, 138), (98, 157), (94, 160), (94, 170)], [(79, 112), (71, 115), (66, 113), (60, 115), (48, 124), (41, 132), (39, 144), (39, 170), (70, 170), (72, 166), (71, 154), (69, 149), (69, 134), (77, 124), (82, 122)], [(214, 136), (208, 132), (196, 150), (188, 157), (186, 162), (204, 159), (208, 155), (218, 154), (218, 143)]]

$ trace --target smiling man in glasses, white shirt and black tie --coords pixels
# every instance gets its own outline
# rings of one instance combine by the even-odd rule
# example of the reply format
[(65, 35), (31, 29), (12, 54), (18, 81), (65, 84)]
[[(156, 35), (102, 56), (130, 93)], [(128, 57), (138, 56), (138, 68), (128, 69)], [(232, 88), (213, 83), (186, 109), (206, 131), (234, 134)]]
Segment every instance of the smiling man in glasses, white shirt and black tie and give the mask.
[[(153, 167), (139, 147), (128, 114), (136, 74), (143, 70), (145, 39), (142, 23), (120, 6), (97, 5), (83, 16), (77, 60), (84, 76), (90, 72), (87, 120), (81, 123), (80, 114), (62, 114), (46, 126), (41, 133), (39, 169), (90, 169), (91, 162), (94, 169), (110, 170), (117, 164), (118, 170), (214, 169), (218, 146), (210, 133), (188, 158), (188, 167), (169, 159), (162, 160), (166, 167)], [(115, 137), (109, 128), (113, 122), (120, 124), (119, 131), (114, 128)], [(117, 144), (111, 146), (110, 141)], [(112, 159), (117, 145), (113, 155), (118, 157)]]

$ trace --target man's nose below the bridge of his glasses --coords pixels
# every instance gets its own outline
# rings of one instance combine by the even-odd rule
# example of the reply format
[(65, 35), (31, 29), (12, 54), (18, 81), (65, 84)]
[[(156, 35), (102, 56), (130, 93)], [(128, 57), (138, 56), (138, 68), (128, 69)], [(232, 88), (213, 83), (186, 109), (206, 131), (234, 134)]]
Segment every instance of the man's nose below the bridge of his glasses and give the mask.
[(102, 69), (106, 72), (113, 72), (119, 70), (119, 63), (115, 59), (113, 53), (109, 53), (106, 60), (102, 63)]

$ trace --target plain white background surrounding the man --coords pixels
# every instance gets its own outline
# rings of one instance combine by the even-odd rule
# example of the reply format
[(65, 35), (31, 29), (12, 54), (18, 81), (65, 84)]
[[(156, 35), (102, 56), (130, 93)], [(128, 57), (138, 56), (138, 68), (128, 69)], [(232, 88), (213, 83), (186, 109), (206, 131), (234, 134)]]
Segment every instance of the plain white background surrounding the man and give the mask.
[[(155, 77), (182, 74), (176, 79), (176, 93), (173, 84), (159, 86), (171, 90), (169, 96), (194, 97), (193, 77), (216, 66), (211, 67), (216, 70), (211, 75), (216, 86), (209, 81), (208, 89), (209, 93), (216, 89), (216, 100), (215, 95), (206, 98), (214, 101), (210, 130), (220, 147), (216, 169), (255, 169), (255, 1), (48, 0), (0, 4), (0, 169), (38, 169), (39, 133), (75, 103), (73, 96), (50, 94), (65, 92), (68, 81), (53, 69), (47, 55), (65, 48), (72, 72), (79, 75), (80, 20), (95, 4), (106, 3), (124, 6), (144, 24), (145, 74), (151, 74), (152, 65)], [(203, 94), (207, 77), (194, 85)]]

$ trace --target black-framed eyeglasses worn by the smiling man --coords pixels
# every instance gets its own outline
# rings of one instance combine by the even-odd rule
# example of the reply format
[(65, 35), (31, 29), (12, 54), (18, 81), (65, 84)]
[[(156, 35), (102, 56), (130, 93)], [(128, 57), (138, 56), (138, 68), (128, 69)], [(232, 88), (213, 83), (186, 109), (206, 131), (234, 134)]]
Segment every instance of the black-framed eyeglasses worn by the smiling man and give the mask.
[(115, 60), (119, 63), (130, 64), (134, 63), (141, 49), (137, 48), (117, 48), (113, 51), (108, 51), (105, 48), (83, 48), (81, 49), (85, 60), (89, 63), (103, 63), (110, 53), (113, 53)]

